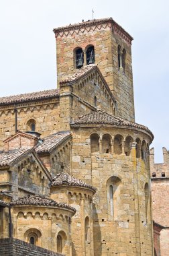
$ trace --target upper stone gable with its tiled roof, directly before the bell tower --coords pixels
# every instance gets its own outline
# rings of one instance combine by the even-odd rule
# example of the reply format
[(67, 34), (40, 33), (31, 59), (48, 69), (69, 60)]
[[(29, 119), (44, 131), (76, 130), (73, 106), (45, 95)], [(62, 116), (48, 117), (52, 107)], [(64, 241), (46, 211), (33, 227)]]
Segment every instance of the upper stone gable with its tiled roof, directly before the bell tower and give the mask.
[(60, 82), (60, 94), (64, 86), (72, 88), (72, 119), (98, 108), (115, 114), (115, 98), (96, 65), (82, 67), (74, 75)]

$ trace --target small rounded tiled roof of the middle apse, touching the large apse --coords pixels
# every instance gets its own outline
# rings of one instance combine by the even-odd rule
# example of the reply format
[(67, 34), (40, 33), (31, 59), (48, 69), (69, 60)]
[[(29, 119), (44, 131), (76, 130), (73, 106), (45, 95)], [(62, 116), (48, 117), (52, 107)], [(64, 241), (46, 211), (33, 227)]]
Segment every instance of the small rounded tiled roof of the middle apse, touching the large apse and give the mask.
[(93, 190), (94, 192), (96, 191), (96, 188), (93, 187), (92, 185), (84, 183), (84, 181), (80, 181), (79, 179), (76, 179), (75, 177), (71, 176), (66, 172), (61, 172), (52, 179), (52, 186), (60, 185), (67, 185), (72, 187), (85, 187), (87, 189)]

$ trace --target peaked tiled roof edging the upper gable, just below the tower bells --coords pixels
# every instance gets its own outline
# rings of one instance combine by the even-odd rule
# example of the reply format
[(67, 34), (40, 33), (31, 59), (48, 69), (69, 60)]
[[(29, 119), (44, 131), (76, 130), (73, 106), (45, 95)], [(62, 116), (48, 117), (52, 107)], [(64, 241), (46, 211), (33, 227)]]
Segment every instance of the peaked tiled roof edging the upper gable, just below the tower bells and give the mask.
[(62, 86), (62, 84), (72, 85), (74, 82), (78, 82), (78, 79), (82, 79), (84, 76), (88, 75), (94, 69), (97, 70), (97, 72), (101, 76), (101, 79), (103, 79), (103, 83), (105, 84), (105, 87), (107, 88), (107, 91), (109, 92), (111, 98), (114, 101), (116, 101), (109, 86), (107, 85), (105, 78), (103, 77), (99, 67), (97, 67), (96, 64), (90, 64), (90, 65), (83, 66), (81, 69), (76, 69), (73, 75), (68, 75), (68, 77), (66, 77), (64, 80), (60, 81), (60, 86)]

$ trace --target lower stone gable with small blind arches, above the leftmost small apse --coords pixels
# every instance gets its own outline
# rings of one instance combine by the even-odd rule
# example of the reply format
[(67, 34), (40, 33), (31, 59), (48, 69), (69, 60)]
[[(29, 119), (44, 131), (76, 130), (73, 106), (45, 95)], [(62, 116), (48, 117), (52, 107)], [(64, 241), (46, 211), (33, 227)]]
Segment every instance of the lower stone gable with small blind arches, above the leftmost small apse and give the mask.
[(10, 171), (14, 197), (15, 193), (18, 196), (23, 196), (27, 193), (48, 195), (50, 174), (42, 165), (36, 152), (32, 151), (15, 161)]

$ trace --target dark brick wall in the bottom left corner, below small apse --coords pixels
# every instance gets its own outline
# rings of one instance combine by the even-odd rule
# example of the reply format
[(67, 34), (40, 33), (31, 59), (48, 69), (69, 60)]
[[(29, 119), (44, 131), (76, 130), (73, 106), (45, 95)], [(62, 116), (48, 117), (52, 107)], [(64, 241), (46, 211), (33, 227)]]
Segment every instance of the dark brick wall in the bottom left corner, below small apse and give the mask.
[(3, 238), (0, 239), (0, 255), (3, 256), (61, 256), (60, 253), (54, 253), (53, 251), (46, 250), (36, 245), (25, 243), (15, 238)]

